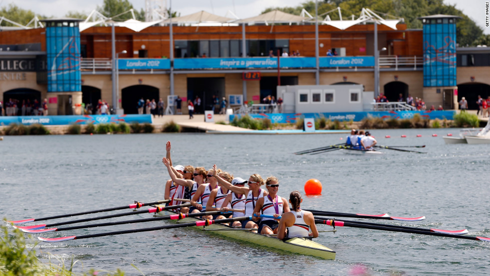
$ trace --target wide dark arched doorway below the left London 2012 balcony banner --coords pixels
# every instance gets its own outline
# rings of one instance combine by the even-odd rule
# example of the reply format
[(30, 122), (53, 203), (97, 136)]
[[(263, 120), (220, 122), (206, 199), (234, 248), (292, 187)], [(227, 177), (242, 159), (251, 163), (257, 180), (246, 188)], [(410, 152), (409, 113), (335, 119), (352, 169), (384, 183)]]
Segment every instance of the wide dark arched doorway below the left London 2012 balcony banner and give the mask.
[[(149, 85), (132, 85), (121, 90), (121, 107), (124, 109), (124, 114), (137, 114), (137, 103), (140, 98), (152, 100), (155, 99), (158, 102), (159, 90), (156, 87)], [(165, 99), (163, 99), (165, 101)], [(166, 104), (166, 101), (165, 101)], [(146, 108), (143, 108), (143, 114), (146, 113)]]

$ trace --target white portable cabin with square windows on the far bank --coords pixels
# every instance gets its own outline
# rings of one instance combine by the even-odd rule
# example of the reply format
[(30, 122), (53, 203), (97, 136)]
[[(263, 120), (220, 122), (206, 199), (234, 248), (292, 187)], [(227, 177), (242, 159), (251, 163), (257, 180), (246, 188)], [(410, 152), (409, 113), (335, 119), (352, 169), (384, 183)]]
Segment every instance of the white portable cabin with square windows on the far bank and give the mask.
[(365, 111), (371, 109), (373, 96), (361, 84), (277, 86), (284, 113)]

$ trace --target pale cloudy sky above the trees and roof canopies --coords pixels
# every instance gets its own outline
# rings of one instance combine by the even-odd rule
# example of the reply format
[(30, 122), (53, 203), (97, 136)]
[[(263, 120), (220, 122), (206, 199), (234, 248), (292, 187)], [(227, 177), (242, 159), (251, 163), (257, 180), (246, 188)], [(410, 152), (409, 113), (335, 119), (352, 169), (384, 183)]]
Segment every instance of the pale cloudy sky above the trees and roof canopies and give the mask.
[[(165, 2), (165, 0), (163, 0)], [(173, 0), (172, 10), (187, 15), (205, 10), (216, 15), (224, 16), (228, 10), (239, 18), (260, 14), (267, 7), (297, 6), (305, 0)], [(455, 5), (479, 25), (485, 34), (490, 34), (490, 27), (485, 26), (486, 0), (444, 0), (444, 3)], [(68, 11), (85, 11), (89, 13), (103, 0), (0, 0), (0, 7), (15, 3), (17, 6), (30, 9), (46, 16), (64, 16)], [(137, 10), (144, 9), (145, 0), (129, 0)], [(167, 7), (170, 0), (166, 0)], [(425, 14), (420, 14), (423, 16)]]

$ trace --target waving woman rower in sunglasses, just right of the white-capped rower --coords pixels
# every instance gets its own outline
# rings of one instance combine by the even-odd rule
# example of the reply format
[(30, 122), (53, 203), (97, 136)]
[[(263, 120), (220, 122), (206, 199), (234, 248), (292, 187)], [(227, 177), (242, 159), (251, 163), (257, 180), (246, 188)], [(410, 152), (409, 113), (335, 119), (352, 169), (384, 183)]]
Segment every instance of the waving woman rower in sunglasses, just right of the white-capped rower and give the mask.
[[(268, 194), (268, 191), (260, 188), (264, 184), (264, 180), (259, 174), (252, 174), (248, 177), (248, 187), (242, 187), (238, 185), (232, 185), (231, 183), (225, 181), (221, 177), (216, 177), (218, 182), (226, 186), (231, 192), (236, 194), (244, 194), (245, 198), (245, 216), (253, 215), (253, 210), (255, 209), (255, 203), (258, 198), (261, 198)], [(258, 228), (257, 223), (254, 220), (246, 219), (241, 221), (242, 228)]]

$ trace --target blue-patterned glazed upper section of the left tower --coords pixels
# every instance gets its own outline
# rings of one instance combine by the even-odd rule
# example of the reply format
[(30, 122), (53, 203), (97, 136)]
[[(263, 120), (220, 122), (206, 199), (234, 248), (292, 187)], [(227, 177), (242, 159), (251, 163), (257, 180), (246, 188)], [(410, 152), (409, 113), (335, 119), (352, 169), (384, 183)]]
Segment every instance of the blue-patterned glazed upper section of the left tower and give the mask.
[(47, 91), (81, 91), (80, 32), (76, 22), (47, 22)]

